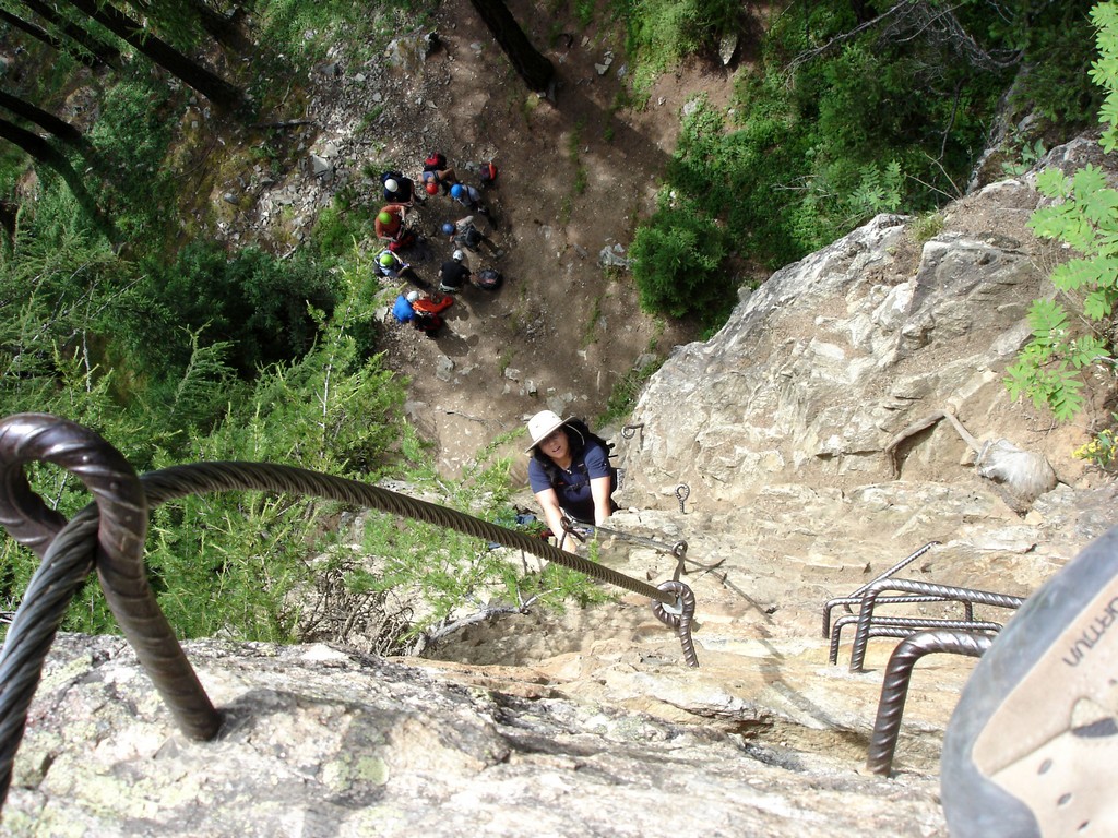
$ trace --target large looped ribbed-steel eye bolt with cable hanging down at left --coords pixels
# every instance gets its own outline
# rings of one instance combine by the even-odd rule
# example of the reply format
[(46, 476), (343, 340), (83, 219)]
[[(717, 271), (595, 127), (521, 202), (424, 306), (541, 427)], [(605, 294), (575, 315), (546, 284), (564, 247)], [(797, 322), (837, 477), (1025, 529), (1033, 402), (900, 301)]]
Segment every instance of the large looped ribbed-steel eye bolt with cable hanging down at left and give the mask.
[[(35, 461), (77, 476), (94, 503), (67, 524), (27, 482), (23, 466)], [(57, 417), (9, 417), (0, 422), (0, 523), (42, 559), (0, 651), (0, 733), (7, 734), (0, 740), (0, 792), (7, 794), (11, 782), (27, 710), (50, 644), (91, 566), (97, 570), (121, 631), (182, 731), (200, 740), (217, 733), (220, 716), (148, 584), (148, 502), (120, 451), (88, 428)]]

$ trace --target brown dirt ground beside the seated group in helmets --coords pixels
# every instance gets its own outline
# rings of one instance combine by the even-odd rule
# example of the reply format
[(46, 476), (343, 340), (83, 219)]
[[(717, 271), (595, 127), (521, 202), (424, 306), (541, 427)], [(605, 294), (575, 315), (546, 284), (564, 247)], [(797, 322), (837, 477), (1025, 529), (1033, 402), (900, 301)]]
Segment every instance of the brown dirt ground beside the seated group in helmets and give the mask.
[[(533, 42), (548, 44), (548, 32), (531, 23), (551, 26), (550, 11), (529, 3), (512, 10)], [(496, 293), (461, 294), (442, 336), (390, 330), (389, 364), (411, 375), (409, 413), (436, 440), (444, 474), (457, 474), (544, 407), (593, 418), (638, 358), (667, 355), (693, 336), (685, 325), (642, 314), (632, 276), (606, 272), (598, 254), (614, 244), (627, 253), (638, 218), (654, 209), (680, 108), (700, 94), (724, 102), (731, 80), (697, 66), (661, 79), (644, 109), (618, 109), (628, 72), (620, 31), (574, 26), (544, 49), (559, 76), (552, 104), (523, 87), (466, 0), (438, 13), (440, 46), (424, 73), (445, 74), (448, 99), (438, 102), (445, 127), (424, 137), (445, 143), (466, 182), (477, 181), (464, 163), (495, 160), (500, 182), (486, 197), (496, 223), (485, 231), (505, 253), (468, 255), (472, 267), (495, 266), (505, 283)], [(610, 53), (599, 74), (595, 65)], [(464, 215), (455, 209), (448, 198), (432, 198), (420, 210), (425, 229)], [(453, 249), (445, 238), (429, 241), (416, 263), (427, 282)], [(519, 439), (506, 446), (522, 447)], [(515, 461), (521, 479), (523, 458)]]

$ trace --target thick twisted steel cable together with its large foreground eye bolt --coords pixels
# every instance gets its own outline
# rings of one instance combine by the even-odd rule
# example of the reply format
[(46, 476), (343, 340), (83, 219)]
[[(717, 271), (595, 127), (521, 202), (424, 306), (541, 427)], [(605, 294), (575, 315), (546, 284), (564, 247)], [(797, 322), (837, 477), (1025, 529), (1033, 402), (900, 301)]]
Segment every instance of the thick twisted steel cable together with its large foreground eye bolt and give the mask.
[[(22, 469), (35, 461), (75, 474), (95, 502), (67, 523), (30, 488)], [(525, 533), (378, 486), (292, 466), (199, 463), (138, 478), (127, 460), (94, 431), (48, 415), (18, 415), (0, 421), (0, 524), (41, 562), (0, 650), (0, 806), (50, 644), (94, 568), (110, 609), (180, 729), (199, 740), (217, 734), (220, 715), (148, 584), (143, 544), (150, 508), (190, 494), (237, 489), (316, 495), (404, 515), (519, 549), (648, 597), (656, 606), (678, 606), (683, 616), (674, 627), (688, 665), (698, 666), (691, 642), (694, 594), (685, 584), (655, 588)]]

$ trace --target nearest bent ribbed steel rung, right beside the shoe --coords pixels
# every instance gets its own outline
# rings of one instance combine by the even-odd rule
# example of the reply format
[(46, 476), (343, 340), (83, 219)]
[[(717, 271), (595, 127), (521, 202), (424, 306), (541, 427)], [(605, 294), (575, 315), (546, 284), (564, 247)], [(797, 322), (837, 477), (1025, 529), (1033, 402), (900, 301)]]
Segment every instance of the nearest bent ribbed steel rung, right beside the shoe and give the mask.
[(904, 714), (904, 702), (908, 698), (909, 683), (917, 660), (934, 651), (982, 657), (993, 642), (994, 637), (986, 634), (937, 629), (911, 635), (897, 645), (889, 657), (885, 677), (881, 684), (878, 717), (873, 723), (873, 736), (870, 739), (870, 750), (865, 760), (868, 771), (888, 775), (892, 770), (901, 716)]

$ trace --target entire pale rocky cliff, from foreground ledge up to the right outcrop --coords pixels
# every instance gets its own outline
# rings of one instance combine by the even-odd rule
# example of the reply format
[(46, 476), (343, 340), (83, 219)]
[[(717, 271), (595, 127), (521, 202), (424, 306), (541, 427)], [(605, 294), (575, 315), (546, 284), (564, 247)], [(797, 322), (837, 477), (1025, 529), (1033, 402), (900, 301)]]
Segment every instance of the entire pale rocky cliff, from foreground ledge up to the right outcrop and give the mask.
[[(1053, 428), (1001, 383), (1060, 258), (1025, 227), (1038, 202), (1023, 179), (941, 225), (877, 218), (775, 274), (651, 381), (618, 438), (629, 508), (613, 526), (686, 541), (699, 669), (632, 596), (475, 626), (428, 660), (188, 644), (226, 716), (196, 743), (123, 641), (64, 637), (4, 834), (946, 835), (939, 745), (973, 659), (918, 666), (893, 775), (866, 777), (896, 640), (851, 673), (849, 637), (827, 660), (821, 610), (930, 542), (906, 578), (1027, 596), (1118, 523), (1112, 483), (1070, 456), (1084, 429)], [(982, 476), (992, 439), (1059, 483), (1022, 499)], [(675, 570), (619, 540), (603, 561)]]

